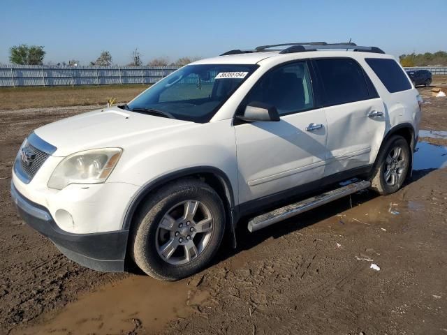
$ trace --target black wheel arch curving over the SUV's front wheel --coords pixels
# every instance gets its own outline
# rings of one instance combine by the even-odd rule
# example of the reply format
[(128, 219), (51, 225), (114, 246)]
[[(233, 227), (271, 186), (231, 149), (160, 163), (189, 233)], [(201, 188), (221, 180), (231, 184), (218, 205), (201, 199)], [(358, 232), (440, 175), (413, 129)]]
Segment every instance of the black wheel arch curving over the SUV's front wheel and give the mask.
[[(130, 204), (128, 205), (126, 214), (124, 215), (122, 229), (131, 229), (135, 213), (151, 194), (172, 181), (185, 178), (196, 178), (203, 180), (205, 181), (205, 183), (210, 185), (214, 189), (214, 191), (217, 192), (223, 202), (223, 207), (225, 208), (226, 212), (226, 231), (230, 233), (233, 246), (235, 246), (236, 215), (233, 187), (231, 186), (230, 179), (228, 178), (226, 173), (219, 168), (214, 168), (212, 166), (186, 168), (183, 170), (164, 174), (161, 177), (149, 181), (149, 183), (140, 188), (138, 193), (135, 195), (135, 197), (133, 197)], [(129, 234), (129, 237), (130, 236), (131, 234)]]

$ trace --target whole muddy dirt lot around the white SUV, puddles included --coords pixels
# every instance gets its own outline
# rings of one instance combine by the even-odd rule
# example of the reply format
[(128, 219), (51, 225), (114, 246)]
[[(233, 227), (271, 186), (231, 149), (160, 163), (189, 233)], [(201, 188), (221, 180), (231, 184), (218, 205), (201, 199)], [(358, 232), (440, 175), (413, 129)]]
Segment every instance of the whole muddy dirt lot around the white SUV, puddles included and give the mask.
[[(420, 91), (421, 128), (447, 131), (447, 98)], [(24, 137), (91, 109), (0, 110), (0, 334), (447, 334), (446, 147), (420, 143), (422, 170), (394, 195), (357, 193), (254, 234), (242, 223), (236, 250), (162, 283), (75, 265), (10, 202)]]

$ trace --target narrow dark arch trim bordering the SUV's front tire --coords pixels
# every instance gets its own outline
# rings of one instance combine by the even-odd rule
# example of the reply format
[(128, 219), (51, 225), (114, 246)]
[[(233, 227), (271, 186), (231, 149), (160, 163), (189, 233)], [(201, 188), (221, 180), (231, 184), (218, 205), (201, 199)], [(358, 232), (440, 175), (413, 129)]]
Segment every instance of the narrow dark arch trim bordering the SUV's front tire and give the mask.
[(213, 174), (214, 177), (217, 177), (221, 186), (223, 186), (225, 190), (225, 198), (222, 199), (226, 201), (226, 216), (228, 218), (226, 229), (231, 234), (233, 247), (236, 247), (236, 235), (235, 235), (235, 226), (237, 223), (237, 210), (235, 209), (235, 201), (234, 201), (234, 193), (233, 187), (231, 186), (230, 179), (226, 175), (225, 172), (220, 170), (219, 168), (214, 168), (212, 166), (195, 166), (193, 168), (186, 168), (183, 170), (178, 170), (175, 172), (171, 172), (168, 174), (163, 174), (163, 176), (158, 177), (152, 181), (149, 181), (147, 184), (143, 185), (138, 193), (132, 198), (129, 202), (126, 214), (124, 214), (123, 220), (123, 230), (129, 230), (131, 227), (131, 221), (133, 218), (133, 214), (135, 214), (135, 210), (138, 208), (138, 205), (146, 198), (146, 196), (153, 191), (155, 188), (162, 186), (163, 184), (168, 183), (169, 181), (173, 181), (175, 179), (179, 179), (182, 177), (188, 177), (193, 174)]

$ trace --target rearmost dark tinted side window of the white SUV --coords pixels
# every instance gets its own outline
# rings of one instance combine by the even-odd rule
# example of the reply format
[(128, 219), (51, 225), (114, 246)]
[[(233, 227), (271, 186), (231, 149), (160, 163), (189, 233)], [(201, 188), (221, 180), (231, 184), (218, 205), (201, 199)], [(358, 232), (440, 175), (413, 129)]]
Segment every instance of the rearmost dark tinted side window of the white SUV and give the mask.
[(394, 59), (366, 58), (365, 61), (390, 93), (411, 89), (408, 77)]

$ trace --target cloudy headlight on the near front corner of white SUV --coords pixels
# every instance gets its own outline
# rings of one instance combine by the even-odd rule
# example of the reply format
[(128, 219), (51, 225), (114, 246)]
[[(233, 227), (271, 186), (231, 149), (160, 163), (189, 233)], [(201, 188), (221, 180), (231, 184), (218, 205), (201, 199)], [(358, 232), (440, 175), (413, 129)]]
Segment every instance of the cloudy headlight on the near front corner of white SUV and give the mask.
[(61, 190), (70, 184), (100, 184), (117, 165), (122, 149), (80, 151), (64, 158), (54, 169), (48, 187)]

